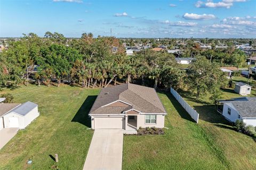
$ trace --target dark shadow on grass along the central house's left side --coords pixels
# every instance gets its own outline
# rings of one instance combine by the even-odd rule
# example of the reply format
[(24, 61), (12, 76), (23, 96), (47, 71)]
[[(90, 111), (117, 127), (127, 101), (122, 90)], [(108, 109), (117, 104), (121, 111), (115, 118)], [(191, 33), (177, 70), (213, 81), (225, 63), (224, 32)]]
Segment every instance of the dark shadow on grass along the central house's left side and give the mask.
[(73, 117), (71, 122), (78, 122), (87, 127), (91, 127), (91, 119), (88, 116), (88, 114), (96, 98), (97, 98), (97, 95), (87, 96), (84, 103), (79, 108), (79, 110), (77, 111), (76, 115)]

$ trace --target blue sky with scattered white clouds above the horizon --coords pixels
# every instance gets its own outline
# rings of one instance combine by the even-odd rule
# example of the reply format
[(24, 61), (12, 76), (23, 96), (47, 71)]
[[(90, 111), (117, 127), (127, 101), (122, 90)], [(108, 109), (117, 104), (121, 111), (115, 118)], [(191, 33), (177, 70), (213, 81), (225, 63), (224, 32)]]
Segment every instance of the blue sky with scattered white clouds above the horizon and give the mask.
[(0, 37), (256, 38), (256, 0), (0, 0)]

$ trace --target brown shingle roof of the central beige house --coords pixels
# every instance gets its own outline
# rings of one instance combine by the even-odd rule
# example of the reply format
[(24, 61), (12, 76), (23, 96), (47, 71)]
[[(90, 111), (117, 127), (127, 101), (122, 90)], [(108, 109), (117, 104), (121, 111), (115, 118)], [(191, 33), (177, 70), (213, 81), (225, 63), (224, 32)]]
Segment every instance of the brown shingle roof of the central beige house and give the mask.
[[(131, 106), (106, 106), (115, 101), (125, 102), (131, 104)], [(122, 114), (130, 109), (143, 113), (166, 113), (154, 88), (135, 84), (122, 84), (102, 88), (89, 114)]]

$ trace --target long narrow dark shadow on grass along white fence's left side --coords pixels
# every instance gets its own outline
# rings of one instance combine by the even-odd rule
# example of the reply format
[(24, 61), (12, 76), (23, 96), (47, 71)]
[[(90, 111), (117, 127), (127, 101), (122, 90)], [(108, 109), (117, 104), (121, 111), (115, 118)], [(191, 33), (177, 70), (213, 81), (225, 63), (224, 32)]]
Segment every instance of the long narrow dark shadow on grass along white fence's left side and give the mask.
[(183, 107), (180, 105), (180, 103), (174, 98), (174, 96), (170, 92), (165, 92), (165, 91), (157, 91), (157, 92), (165, 94), (168, 97), (168, 99), (171, 101), (174, 108), (177, 110), (177, 112), (181, 116), (181, 118), (189, 120), (191, 122), (195, 122), (195, 120), (190, 117), (190, 115), (187, 113), (187, 111), (185, 109), (183, 109)]

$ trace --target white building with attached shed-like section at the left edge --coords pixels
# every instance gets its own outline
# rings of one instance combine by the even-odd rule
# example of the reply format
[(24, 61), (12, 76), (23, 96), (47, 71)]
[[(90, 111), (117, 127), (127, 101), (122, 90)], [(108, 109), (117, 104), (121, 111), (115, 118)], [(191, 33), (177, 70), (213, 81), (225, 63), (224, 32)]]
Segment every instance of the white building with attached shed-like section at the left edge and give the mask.
[(38, 105), (33, 102), (0, 103), (0, 130), (9, 127), (23, 129), (38, 116)]

